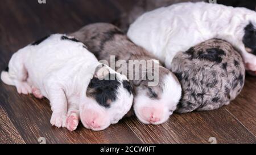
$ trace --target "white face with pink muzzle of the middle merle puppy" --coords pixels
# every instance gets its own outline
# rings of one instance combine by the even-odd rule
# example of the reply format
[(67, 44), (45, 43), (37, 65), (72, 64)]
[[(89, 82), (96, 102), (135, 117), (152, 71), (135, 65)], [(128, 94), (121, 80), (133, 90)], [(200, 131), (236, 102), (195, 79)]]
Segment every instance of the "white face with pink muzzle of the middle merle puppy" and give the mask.
[(135, 87), (134, 111), (146, 124), (161, 124), (168, 120), (181, 97), (181, 86), (176, 76), (159, 67), (159, 83), (149, 86), (150, 80), (141, 80)]

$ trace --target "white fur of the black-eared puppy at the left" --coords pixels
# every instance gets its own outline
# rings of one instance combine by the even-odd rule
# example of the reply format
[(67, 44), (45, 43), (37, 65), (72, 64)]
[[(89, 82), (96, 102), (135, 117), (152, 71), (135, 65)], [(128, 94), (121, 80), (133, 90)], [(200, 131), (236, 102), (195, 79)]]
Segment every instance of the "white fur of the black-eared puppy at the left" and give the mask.
[[(65, 120), (71, 113), (79, 115), (80, 112), (81, 117), (82, 108), (104, 111), (106, 114), (101, 116), (106, 122), (95, 130), (103, 130), (110, 123), (117, 123), (130, 110), (133, 95), (121, 84), (117, 100), (109, 109), (86, 97), (88, 84), (101, 63), (83, 47), (84, 44), (61, 40), (61, 36), (51, 35), (39, 45), (28, 45), (18, 50), (11, 57), (9, 72), (2, 72), (2, 81), (15, 85), (18, 92), (24, 94), (31, 93), (32, 87), (38, 88), (51, 103), (51, 123), (57, 127), (65, 127)], [(117, 74), (119, 81), (127, 80), (110, 67), (108, 69), (110, 73)]]

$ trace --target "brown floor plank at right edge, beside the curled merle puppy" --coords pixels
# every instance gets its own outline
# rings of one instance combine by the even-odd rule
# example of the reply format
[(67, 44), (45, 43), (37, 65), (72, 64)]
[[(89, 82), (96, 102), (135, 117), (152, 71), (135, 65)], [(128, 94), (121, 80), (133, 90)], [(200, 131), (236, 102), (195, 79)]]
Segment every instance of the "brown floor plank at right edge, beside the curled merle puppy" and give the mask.
[(232, 101), (226, 110), (229, 111), (247, 130), (254, 136), (256, 135), (256, 77), (246, 75), (245, 87)]

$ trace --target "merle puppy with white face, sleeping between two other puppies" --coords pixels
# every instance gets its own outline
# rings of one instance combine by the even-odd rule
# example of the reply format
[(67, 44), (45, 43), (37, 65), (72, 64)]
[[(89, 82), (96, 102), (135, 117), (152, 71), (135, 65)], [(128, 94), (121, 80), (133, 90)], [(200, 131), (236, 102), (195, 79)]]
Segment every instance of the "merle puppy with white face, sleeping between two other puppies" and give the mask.
[[(99, 60), (106, 60), (116, 71), (127, 72), (127, 77), (134, 85), (134, 111), (141, 122), (166, 122), (181, 97), (180, 83), (172, 72), (161, 66), (146, 50), (133, 44), (112, 24), (90, 24), (71, 36), (82, 41)], [(113, 61), (117, 61), (114, 66)], [(126, 66), (125, 71), (120, 70), (123, 66), (117, 65), (122, 61), (122, 65)], [(149, 62), (147, 65), (152, 64), (152, 68), (138, 66), (143, 61)], [(150, 72), (154, 72), (154, 79), (149, 78)], [(139, 79), (130, 76), (135, 74), (139, 75)], [(156, 81), (155, 85), (150, 85), (152, 80)]]

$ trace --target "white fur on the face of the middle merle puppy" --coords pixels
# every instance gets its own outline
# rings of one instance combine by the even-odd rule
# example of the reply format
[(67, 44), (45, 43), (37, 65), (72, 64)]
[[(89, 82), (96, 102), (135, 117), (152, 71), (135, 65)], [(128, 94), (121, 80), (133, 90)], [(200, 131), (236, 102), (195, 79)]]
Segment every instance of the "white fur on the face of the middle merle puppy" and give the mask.
[[(161, 124), (168, 120), (170, 115), (176, 110), (177, 104), (181, 98), (181, 86), (174, 77), (173, 74), (168, 74), (163, 79), (163, 93), (159, 96), (159, 100), (152, 100), (148, 98), (146, 94), (142, 92), (134, 97), (134, 111), (138, 119), (142, 123), (146, 124)], [(142, 108), (148, 107), (151, 109), (151, 113), (155, 118), (159, 120), (150, 122), (148, 120), (150, 115), (143, 117)]]

